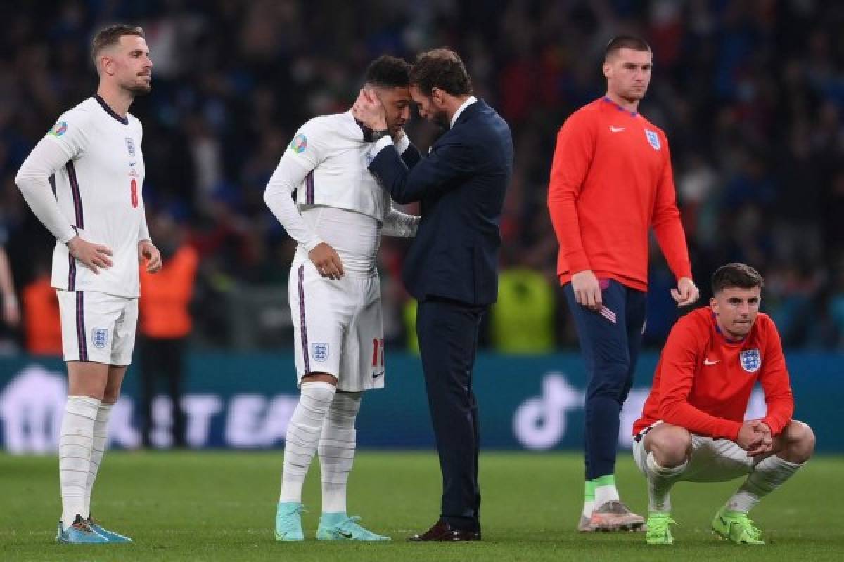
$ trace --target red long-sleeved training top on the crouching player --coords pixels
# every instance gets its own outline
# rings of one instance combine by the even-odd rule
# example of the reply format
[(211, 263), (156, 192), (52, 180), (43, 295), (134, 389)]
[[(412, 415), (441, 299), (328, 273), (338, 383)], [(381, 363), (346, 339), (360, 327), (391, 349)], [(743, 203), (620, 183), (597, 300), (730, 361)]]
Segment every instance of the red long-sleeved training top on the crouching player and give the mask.
[(760, 313), (744, 340), (731, 341), (711, 308), (698, 308), (671, 329), (633, 435), (663, 420), (735, 441), (757, 380), (768, 406), (762, 421), (777, 435), (792, 418), (794, 399), (774, 321)]

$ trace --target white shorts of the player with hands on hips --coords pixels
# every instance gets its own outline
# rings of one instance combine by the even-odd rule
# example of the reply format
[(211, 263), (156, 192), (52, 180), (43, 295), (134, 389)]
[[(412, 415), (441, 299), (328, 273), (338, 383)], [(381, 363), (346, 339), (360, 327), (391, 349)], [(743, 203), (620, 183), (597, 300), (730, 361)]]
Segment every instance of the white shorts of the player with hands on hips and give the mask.
[(65, 361), (126, 366), (138, 329), (138, 299), (57, 289)]

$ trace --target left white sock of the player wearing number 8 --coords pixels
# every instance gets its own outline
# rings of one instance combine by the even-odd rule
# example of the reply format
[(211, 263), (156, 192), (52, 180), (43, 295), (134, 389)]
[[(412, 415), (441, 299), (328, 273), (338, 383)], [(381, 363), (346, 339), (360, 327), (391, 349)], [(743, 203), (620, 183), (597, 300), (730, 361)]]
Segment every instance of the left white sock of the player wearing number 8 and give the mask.
[(88, 466), (94, 446), (94, 424), (100, 400), (68, 396), (58, 441), (59, 484), (62, 489), (62, 526), (67, 529), (76, 516), (85, 517)]

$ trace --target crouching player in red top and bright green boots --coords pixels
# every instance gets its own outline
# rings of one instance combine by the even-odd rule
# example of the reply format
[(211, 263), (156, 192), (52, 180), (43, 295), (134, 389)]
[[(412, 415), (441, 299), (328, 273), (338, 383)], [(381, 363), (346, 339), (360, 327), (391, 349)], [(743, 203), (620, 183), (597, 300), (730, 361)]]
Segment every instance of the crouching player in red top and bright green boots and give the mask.
[[(712, 520), (734, 543), (763, 544), (748, 512), (791, 478), (814, 452), (814, 433), (792, 420), (794, 400), (780, 336), (759, 313), (762, 277), (749, 265), (722, 265), (709, 308), (680, 318), (657, 364), (633, 455), (647, 478), (647, 543), (673, 542), (668, 491), (678, 480), (723, 482), (747, 475)], [(744, 421), (756, 381), (767, 413)]]

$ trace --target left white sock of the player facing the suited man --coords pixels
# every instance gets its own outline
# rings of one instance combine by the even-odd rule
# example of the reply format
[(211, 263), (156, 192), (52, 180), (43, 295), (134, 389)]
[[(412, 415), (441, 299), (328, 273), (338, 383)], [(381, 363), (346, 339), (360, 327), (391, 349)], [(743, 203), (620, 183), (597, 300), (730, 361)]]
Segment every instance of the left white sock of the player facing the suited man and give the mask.
[(322, 420), (336, 388), (331, 383), (302, 383), (299, 404), (290, 417), (284, 436), (284, 468), (279, 501), (301, 501), (302, 486), (317, 452)]

